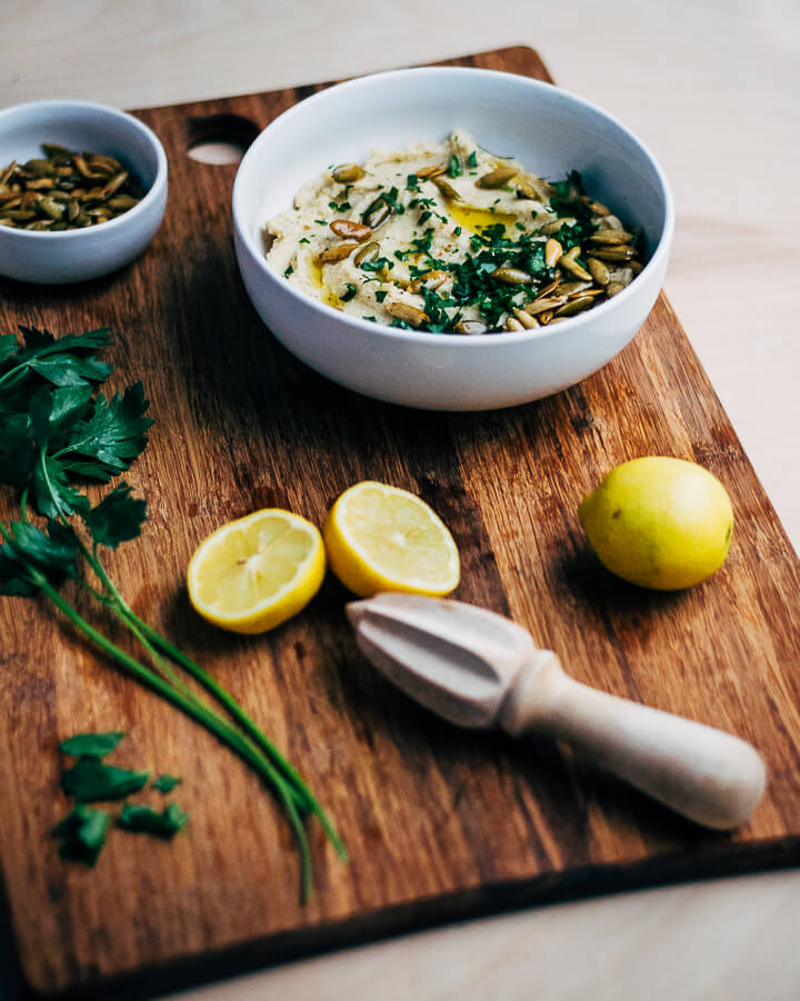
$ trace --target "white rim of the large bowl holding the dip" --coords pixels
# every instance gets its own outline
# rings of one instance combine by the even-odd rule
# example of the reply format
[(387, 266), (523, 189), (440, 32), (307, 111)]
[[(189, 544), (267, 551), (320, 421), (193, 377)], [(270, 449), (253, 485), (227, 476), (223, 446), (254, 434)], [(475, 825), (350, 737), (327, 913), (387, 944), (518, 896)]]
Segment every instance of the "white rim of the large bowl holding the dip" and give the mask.
[[(490, 331), (488, 335), (481, 335), (479, 337), (468, 337), (463, 334), (454, 334), (450, 331), (434, 333), (431, 330), (404, 330), (398, 327), (390, 327), (386, 324), (377, 324), (371, 320), (364, 320), (360, 317), (350, 316), (349, 314), (341, 313), (340, 310), (334, 310), (331, 306), (319, 301), (311, 296), (306, 295), (304, 293), (296, 289), (287, 281), (281, 280), (281, 276), (278, 275), (267, 262), (267, 258), (260, 251), (257, 246), (254, 239), (250, 235), (249, 226), (244, 225), (244, 209), (241, 206), (241, 189), (243, 181), (241, 180), (243, 174), (249, 168), (248, 160), (250, 162), (253, 161), (254, 155), (262, 145), (266, 145), (269, 141), (269, 137), (272, 131), (279, 126), (279, 123), (286, 121), (289, 118), (292, 118), (299, 113), (306, 113), (309, 107), (313, 108), (318, 102), (323, 102), (326, 99), (329, 99), (329, 96), (332, 92), (342, 92), (346, 90), (359, 90), (363, 87), (369, 87), (373, 82), (382, 82), (384, 80), (401, 80), (403, 78), (408, 78), (410, 76), (469, 76), (469, 77), (483, 77), (486, 79), (498, 79), (502, 78), (506, 80), (513, 80), (514, 85), (529, 87), (532, 90), (557, 90), (559, 95), (564, 97), (568, 101), (572, 101), (576, 105), (581, 106), (584, 110), (591, 111), (592, 113), (599, 116), (604, 119), (610, 125), (614, 126), (622, 133), (624, 133), (636, 147), (641, 150), (644, 158), (649, 161), (650, 167), (658, 179), (659, 187), (661, 189), (661, 194), (664, 201), (664, 225), (659, 236), (658, 244), (656, 245), (656, 249), (653, 250), (650, 259), (642, 268), (640, 275), (636, 277), (634, 281), (631, 281), (629, 286), (627, 286), (622, 291), (618, 293), (613, 298), (607, 299), (604, 303), (601, 303), (599, 306), (596, 306), (593, 309), (589, 309), (586, 313), (567, 317), (560, 324), (556, 324), (553, 326), (548, 325), (547, 327), (540, 326), (533, 329), (526, 330), (498, 330)], [(276, 118), (266, 126), (264, 129), (256, 137), (249, 149), (246, 151), (242, 157), (239, 167), (237, 169), (236, 178), (233, 180), (233, 190), (231, 195), (231, 209), (233, 216), (233, 228), (238, 241), (244, 247), (244, 249), (249, 252), (250, 257), (257, 262), (260, 271), (267, 276), (269, 281), (280, 283), (278, 286), (284, 293), (288, 293), (290, 298), (294, 298), (300, 308), (310, 308), (313, 311), (320, 314), (320, 316), (324, 318), (330, 318), (331, 314), (338, 315), (338, 319), (344, 324), (352, 324), (357, 330), (371, 333), (373, 336), (378, 334), (381, 337), (388, 337), (392, 340), (398, 340), (404, 344), (423, 344), (427, 346), (440, 346), (442, 348), (450, 348), (454, 344), (463, 345), (463, 348), (467, 350), (489, 350), (500, 344), (518, 344), (520, 341), (529, 341), (529, 340), (549, 340), (553, 337), (562, 337), (564, 328), (570, 331), (579, 330), (586, 327), (587, 325), (593, 323), (599, 313), (606, 315), (609, 310), (613, 308), (619, 308), (621, 304), (623, 304), (632, 294), (634, 294), (634, 286), (638, 280), (641, 279), (648, 271), (653, 271), (662, 258), (669, 254), (670, 246), (672, 242), (672, 236), (674, 231), (674, 200), (672, 197), (672, 191), (669, 186), (669, 181), (667, 180), (667, 176), (663, 171), (663, 168), (650, 150), (650, 148), (634, 133), (629, 129), (623, 122), (621, 122), (616, 116), (600, 108), (598, 105), (592, 101), (587, 100), (586, 98), (579, 97), (572, 91), (564, 90), (560, 87), (557, 87), (554, 83), (548, 83), (544, 80), (538, 80), (533, 77), (524, 77), (521, 73), (510, 73), (503, 70), (491, 70), (491, 69), (482, 69), (479, 67), (462, 67), (462, 66), (427, 66), (427, 67), (409, 67), (406, 69), (394, 69), (394, 70), (386, 70), (383, 72), (378, 73), (366, 73), (363, 76), (353, 77), (350, 80), (344, 80), (341, 83), (334, 83), (331, 87), (327, 87), (324, 90), (318, 91), (317, 93), (312, 93), (303, 100), (298, 101), (298, 103), (292, 105), (291, 108), (287, 108), (286, 111), (282, 111)], [(639, 286), (641, 287), (641, 286)], [(498, 338), (500, 340), (498, 341)]]

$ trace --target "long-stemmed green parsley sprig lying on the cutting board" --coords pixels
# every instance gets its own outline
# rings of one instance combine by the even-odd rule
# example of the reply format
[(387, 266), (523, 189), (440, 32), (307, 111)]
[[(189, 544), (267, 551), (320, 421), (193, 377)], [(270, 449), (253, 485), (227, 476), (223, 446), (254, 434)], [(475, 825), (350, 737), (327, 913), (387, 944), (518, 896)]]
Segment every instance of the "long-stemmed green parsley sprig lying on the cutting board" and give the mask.
[[(190, 657), (141, 620), (111, 581), (101, 548), (136, 538), (146, 503), (118, 483), (97, 504), (82, 483), (108, 483), (124, 473), (147, 445), (152, 419), (141, 383), (106, 398), (101, 384), (111, 366), (97, 357), (109, 330), (56, 338), (21, 327), (22, 340), (0, 335), (0, 485), (17, 490), (20, 517), (0, 522), (0, 594), (49, 598), (96, 646), (141, 684), (156, 691), (214, 734), (252, 767), (280, 801), (300, 853), (303, 900), (311, 892), (311, 854), (304, 817), (318, 817), (341, 859), (344, 846), (333, 824), (294, 767), (239, 703)], [(61, 594), (74, 584), (122, 623), (138, 641), (137, 660), (89, 623)], [(189, 674), (224, 710), (189, 687)], [(79, 776), (74, 776), (76, 781)], [(86, 776), (81, 776), (86, 777)], [(70, 822), (89, 848), (100, 822), (89, 807)], [(89, 836), (92, 832), (97, 838)], [(104, 829), (102, 834), (104, 835)]]

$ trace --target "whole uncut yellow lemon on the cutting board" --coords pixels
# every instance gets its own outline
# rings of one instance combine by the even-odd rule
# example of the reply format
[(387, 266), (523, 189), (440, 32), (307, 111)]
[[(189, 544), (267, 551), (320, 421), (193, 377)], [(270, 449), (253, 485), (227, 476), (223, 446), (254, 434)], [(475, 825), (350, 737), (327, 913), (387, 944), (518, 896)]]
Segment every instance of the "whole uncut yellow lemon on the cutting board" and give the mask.
[(664, 456), (617, 466), (578, 514), (603, 566), (657, 591), (711, 576), (733, 535), (733, 509), (719, 479), (696, 463)]

